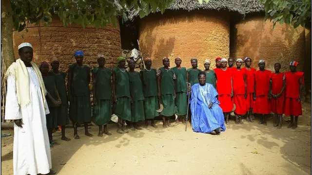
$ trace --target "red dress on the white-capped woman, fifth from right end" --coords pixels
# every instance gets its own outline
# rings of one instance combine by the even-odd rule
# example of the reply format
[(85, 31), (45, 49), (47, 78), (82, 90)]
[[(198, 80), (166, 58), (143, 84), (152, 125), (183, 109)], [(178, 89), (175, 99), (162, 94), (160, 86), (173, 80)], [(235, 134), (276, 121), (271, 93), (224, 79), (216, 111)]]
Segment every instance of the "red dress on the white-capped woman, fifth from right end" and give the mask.
[(232, 80), (233, 80), (233, 103), (236, 105), (235, 114), (244, 115), (246, 114), (246, 99), (245, 99), (245, 81), (246, 70), (232, 69)]

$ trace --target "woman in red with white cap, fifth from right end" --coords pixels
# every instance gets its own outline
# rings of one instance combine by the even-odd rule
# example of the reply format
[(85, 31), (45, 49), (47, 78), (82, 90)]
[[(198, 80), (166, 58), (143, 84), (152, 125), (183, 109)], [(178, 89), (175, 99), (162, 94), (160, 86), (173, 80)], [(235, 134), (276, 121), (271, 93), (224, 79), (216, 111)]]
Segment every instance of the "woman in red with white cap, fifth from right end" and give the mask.
[(247, 97), (247, 84), (246, 84), (246, 70), (240, 69), (243, 64), (242, 59), (236, 60), (236, 68), (233, 68), (233, 103), (236, 105), (234, 110), (235, 123), (244, 124), (242, 122), (242, 115), (246, 114), (246, 97)]

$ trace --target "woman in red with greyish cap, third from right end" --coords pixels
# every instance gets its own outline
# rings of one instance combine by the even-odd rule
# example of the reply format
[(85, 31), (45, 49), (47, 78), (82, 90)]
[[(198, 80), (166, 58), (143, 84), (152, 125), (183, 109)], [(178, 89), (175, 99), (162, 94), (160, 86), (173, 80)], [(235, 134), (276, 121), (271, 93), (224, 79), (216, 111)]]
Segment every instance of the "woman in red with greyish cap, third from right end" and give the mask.
[(271, 113), (271, 74), (269, 70), (265, 70), (265, 61), (259, 60), (259, 70), (254, 74), (254, 113), (261, 116), (258, 124), (267, 125), (268, 114)]

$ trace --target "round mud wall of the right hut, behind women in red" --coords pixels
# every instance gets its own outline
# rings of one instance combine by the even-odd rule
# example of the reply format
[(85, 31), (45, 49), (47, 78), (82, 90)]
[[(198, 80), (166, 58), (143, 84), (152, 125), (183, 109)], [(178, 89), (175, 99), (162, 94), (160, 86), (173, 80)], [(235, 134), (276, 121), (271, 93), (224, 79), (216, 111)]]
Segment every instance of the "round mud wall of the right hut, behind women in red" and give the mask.
[(298, 61), (298, 70), (303, 70), (306, 57), (303, 27), (293, 29), (292, 26), (278, 23), (273, 29), (273, 23), (264, 21), (264, 16), (254, 16), (237, 23), (232, 31), (231, 56), (251, 57), (255, 68), (259, 59), (264, 59), (268, 70), (274, 70), (274, 63), (279, 62), (281, 71), (288, 71), (289, 63)]

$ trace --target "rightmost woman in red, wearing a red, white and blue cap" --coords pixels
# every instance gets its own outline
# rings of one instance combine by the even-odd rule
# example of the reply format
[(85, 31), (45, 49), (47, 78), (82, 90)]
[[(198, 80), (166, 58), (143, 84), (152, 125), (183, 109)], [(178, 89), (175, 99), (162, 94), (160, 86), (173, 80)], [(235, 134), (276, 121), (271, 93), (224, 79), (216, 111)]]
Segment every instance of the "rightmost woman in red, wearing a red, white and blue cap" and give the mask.
[[(303, 85), (303, 72), (297, 71), (298, 62), (292, 61), (289, 65), (291, 71), (286, 72), (286, 100), (285, 115), (291, 116), (288, 128), (295, 129), (298, 125), (298, 116), (302, 115), (301, 91)], [(295, 121), (293, 123), (293, 116)]]

